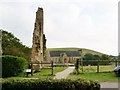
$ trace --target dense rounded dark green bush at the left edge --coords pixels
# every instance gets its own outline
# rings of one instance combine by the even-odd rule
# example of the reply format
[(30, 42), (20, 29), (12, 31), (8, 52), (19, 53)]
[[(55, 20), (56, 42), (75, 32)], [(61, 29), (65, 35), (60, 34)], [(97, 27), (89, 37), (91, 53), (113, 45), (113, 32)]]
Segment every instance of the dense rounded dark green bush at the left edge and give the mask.
[[(1, 58), (1, 57), (0, 57)], [(2, 77), (17, 76), (27, 67), (26, 59), (16, 56), (2, 56)]]

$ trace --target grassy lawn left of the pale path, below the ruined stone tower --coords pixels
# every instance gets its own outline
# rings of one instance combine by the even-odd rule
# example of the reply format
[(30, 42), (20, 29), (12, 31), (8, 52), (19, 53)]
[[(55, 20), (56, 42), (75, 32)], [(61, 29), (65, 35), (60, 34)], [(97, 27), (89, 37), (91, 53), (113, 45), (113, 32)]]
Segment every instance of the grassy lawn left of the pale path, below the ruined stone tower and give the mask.
[[(10, 78), (13, 78), (13, 79), (23, 79), (23, 78), (46, 79), (46, 78), (53, 78), (57, 72), (61, 72), (61, 71), (65, 70), (65, 69), (67, 69), (67, 68), (68, 67), (54, 67), (53, 68), (54, 75), (51, 75), (52, 74), (51, 69), (42, 69), (40, 72), (33, 73), (33, 76), (31, 76), (31, 74), (30, 74), (28, 77), (26, 77), (26, 74), (22, 74), (22, 75), (19, 75), (19, 76), (16, 76), (16, 77), (10, 77)], [(9, 79), (9, 78), (4, 78), (4, 79)]]

